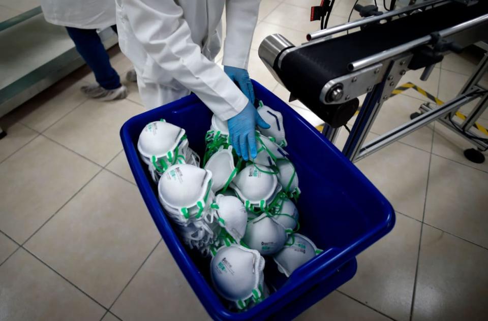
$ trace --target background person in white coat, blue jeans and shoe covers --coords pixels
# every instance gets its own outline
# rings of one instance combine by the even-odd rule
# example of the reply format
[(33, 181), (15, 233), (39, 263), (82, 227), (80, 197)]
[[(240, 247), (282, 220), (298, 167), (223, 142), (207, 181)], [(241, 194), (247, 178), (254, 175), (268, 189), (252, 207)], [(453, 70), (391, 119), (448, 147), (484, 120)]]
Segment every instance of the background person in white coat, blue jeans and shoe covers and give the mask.
[[(114, 0), (41, 0), (47, 22), (65, 26), (77, 51), (95, 74), (97, 84), (82, 86), (90, 98), (104, 101), (127, 97), (126, 86), (110, 65), (110, 60), (97, 29), (115, 26)], [(128, 73), (128, 79), (134, 72)], [(134, 78), (134, 76), (132, 76)]]

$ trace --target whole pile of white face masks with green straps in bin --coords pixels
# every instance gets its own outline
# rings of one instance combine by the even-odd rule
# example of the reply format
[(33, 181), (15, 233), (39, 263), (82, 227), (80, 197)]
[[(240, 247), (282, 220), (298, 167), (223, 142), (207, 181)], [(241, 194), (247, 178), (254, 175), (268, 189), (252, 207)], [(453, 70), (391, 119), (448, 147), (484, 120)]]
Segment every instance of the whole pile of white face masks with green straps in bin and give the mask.
[(288, 277), (321, 251), (296, 233), (300, 189), (283, 149), (283, 117), (262, 103), (258, 113), (270, 128), (256, 131), (258, 152), (249, 162), (236, 155), (227, 122), (215, 115), (202, 164), (185, 130), (164, 120), (148, 124), (138, 141), (176, 232), (190, 249), (211, 256), (211, 281), (237, 310), (269, 296), (263, 255)]

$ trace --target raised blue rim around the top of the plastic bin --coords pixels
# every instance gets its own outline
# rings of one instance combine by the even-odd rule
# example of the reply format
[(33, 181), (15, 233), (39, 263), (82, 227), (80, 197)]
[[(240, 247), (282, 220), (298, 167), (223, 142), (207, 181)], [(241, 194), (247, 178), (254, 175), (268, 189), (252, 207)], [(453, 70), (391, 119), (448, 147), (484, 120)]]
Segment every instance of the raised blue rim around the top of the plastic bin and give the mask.
[[(268, 89), (263, 87), (257, 81), (252, 81), (255, 87), (255, 91), (265, 90), (269, 92)], [(273, 95), (276, 99), (279, 99), (278, 97), (276, 97), (276, 95), (272, 93), (270, 94)], [(120, 137), (123, 143), (124, 151), (126, 152), (126, 156), (129, 161), (131, 171), (134, 174), (137, 186), (139, 187), (139, 190), (144, 199), (144, 202), (146, 203), (149, 213), (153, 217), (153, 220), (155, 221), (158, 230), (160, 231), (168, 249), (173, 255), (173, 258), (178, 264), (181, 272), (185, 275), (187, 281), (192, 286), (193, 291), (212, 318), (248, 320), (261, 318), (261, 316), (267, 315), (268, 313), (266, 312), (266, 309), (269, 308), (269, 306), (275, 306), (273, 310), (280, 309), (289, 303), (287, 302), (289, 300), (286, 300), (286, 298), (292, 297), (292, 293), (295, 293), (296, 295), (296, 293), (306, 292), (307, 288), (310, 288), (314, 284), (320, 282), (320, 280), (329, 277), (342, 265), (353, 259), (357, 254), (359, 254), (365, 248), (369, 247), (381, 237), (386, 235), (393, 228), (395, 222), (394, 210), (391, 204), (381, 194), (381, 192), (349, 161), (349, 159), (344, 156), (344, 154), (342, 154), (339, 149), (337, 149), (323, 135), (321, 135), (312, 124), (305, 120), (296, 111), (292, 110), (292, 113), (294, 113), (294, 116), (296, 116), (297, 120), (306, 125), (308, 129), (312, 131), (320, 141), (330, 147), (334, 156), (339, 157), (343, 163), (348, 164), (347, 166), (350, 167), (350, 170), (356, 172), (355, 175), (359, 180), (361, 180), (365, 184), (372, 185), (372, 191), (374, 194), (376, 194), (376, 197), (378, 199), (384, 200), (384, 202), (382, 202), (383, 211), (385, 213), (388, 213), (388, 215), (386, 220), (382, 224), (379, 224), (376, 229), (362, 235), (355, 242), (350, 244), (350, 246), (342, 250), (338, 248), (328, 249), (317, 255), (307, 264), (301, 266), (294, 273), (292, 273), (288, 281), (284, 284), (283, 287), (280, 288), (278, 292), (274, 293), (272, 296), (264, 301), (266, 302), (266, 304), (263, 304), (263, 302), (245, 312), (230, 312), (222, 304), (219, 297), (211, 287), (211, 284), (209, 284), (200, 273), (200, 271), (188, 255), (184, 245), (182, 245), (182, 243), (179, 241), (178, 237), (172, 230), (169, 219), (165, 215), (163, 208), (159, 205), (158, 197), (155, 196), (153, 192), (151, 183), (147, 179), (145, 179), (146, 175), (142, 168), (141, 162), (139, 161), (137, 149), (132, 143), (132, 138), (129, 134), (130, 128), (135, 122), (137, 122), (137, 119), (140, 117), (148, 116), (148, 118), (150, 119), (159, 119), (161, 117), (158, 117), (157, 115), (161, 113), (162, 109), (170, 109), (174, 108), (175, 106), (188, 107), (197, 103), (201, 103), (198, 97), (195, 94), (190, 94), (187, 97), (181, 98), (165, 106), (151, 109), (139, 115), (133, 116), (132, 118), (127, 120), (121, 127)], [(134, 159), (136, 159), (137, 162), (134, 162)], [(315, 281), (309, 282), (313, 279), (315, 279)], [(218, 302), (218, 305), (220, 306), (215, 306), (214, 302)]]

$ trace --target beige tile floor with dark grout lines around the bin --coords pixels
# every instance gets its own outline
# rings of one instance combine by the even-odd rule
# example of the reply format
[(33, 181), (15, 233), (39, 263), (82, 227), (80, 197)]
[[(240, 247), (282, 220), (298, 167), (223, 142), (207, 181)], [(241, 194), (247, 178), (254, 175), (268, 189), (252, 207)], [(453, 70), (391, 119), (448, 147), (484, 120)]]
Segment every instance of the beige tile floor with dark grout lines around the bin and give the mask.
[[(347, 21), (353, 0), (339, 0), (331, 21)], [(257, 56), (267, 34), (293, 42), (316, 1), (263, 0), (251, 76), (283, 100), (288, 92)], [(348, 9), (349, 8), (349, 9)], [(131, 68), (110, 51), (121, 75)], [(219, 59), (222, 56), (220, 55)], [(447, 100), (476, 64), (450, 55), (428, 82)], [(137, 87), (124, 101), (90, 101), (78, 88), (87, 68), (0, 119), (0, 320), (208, 319), (161, 241), (141, 200), (118, 138), (144, 109)], [(407, 91), (386, 102), (370, 138), (408, 119), (425, 100)], [(314, 125), (321, 120), (290, 104)], [(481, 121), (488, 122), (488, 116)], [(342, 131), (337, 145), (344, 144)], [(301, 320), (464, 320), (488, 312), (488, 163), (475, 165), (463, 139), (425, 127), (356, 165), (397, 211), (393, 231), (358, 255), (354, 278), (302, 313)]]

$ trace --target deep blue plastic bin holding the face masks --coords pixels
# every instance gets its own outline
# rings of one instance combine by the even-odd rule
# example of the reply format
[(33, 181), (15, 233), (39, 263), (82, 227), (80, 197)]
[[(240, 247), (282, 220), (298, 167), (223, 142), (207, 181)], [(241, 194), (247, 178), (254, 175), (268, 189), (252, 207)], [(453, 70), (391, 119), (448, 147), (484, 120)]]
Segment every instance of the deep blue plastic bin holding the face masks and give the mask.
[(120, 130), (132, 173), (167, 247), (208, 314), (220, 320), (295, 317), (351, 279), (356, 272), (355, 256), (387, 234), (395, 222), (390, 203), (335, 146), (276, 95), (253, 83), (256, 97), (283, 114), (288, 142), (285, 149), (296, 167), (302, 192), (297, 204), (299, 233), (324, 251), (289, 278), (266, 258), (265, 282), (278, 290), (248, 311), (230, 311), (214, 291), (208, 260), (187, 250), (178, 239), (159, 204), (157, 186), (137, 152), (144, 126), (164, 118), (184, 127), (190, 147), (203, 155), (211, 112), (192, 94), (134, 116)]

